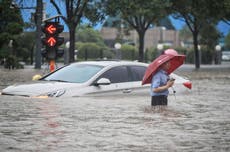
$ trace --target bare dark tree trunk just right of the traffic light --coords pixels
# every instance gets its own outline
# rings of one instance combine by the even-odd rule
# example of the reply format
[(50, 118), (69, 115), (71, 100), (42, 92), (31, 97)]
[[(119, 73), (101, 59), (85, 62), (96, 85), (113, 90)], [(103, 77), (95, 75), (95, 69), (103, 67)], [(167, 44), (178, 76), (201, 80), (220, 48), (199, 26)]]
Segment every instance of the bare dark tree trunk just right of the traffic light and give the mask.
[(75, 53), (75, 28), (70, 28), (69, 30), (69, 63), (74, 62), (74, 53)]

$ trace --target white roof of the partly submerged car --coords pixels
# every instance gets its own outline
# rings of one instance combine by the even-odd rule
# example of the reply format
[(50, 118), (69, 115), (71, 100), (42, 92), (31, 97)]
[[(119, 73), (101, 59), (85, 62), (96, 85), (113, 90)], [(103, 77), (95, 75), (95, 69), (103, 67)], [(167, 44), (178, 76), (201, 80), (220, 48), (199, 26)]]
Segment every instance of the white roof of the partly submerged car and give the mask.
[(90, 65), (98, 65), (98, 66), (117, 66), (117, 65), (139, 65), (139, 66), (147, 66), (148, 64), (138, 61), (114, 61), (114, 60), (101, 60), (101, 61), (81, 61), (75, 62), (72, 64), (90, 64)]

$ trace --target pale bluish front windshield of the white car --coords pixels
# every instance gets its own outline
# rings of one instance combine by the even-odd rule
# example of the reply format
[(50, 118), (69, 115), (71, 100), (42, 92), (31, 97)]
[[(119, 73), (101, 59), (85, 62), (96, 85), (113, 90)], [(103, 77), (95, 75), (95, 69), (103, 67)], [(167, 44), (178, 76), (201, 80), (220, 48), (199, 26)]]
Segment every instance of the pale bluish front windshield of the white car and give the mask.
[(103, 66), (72, 64), (48, 75), (42, 80), (71, 83), (84, 83), (92, 78)]

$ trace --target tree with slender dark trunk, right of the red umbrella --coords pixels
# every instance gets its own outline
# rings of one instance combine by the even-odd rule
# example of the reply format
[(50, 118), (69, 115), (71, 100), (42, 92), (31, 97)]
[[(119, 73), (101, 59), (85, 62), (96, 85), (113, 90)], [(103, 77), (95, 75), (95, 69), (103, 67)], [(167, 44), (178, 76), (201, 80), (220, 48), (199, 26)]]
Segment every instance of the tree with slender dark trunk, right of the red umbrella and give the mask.
[[(221, 16), (217, 12), (221, 10), (218, 3), (222, 1), (215, 0), (171, 0), (172, 10), (176, 19), (182, 19), (193, 35), (193, 46), (195, 54), (195, 67), (200, 68), (200, 54), (198, 50), (198, 36), (202, 28), (206, 25), (216, 25)], [(219, 10), (216, 10), (219, 9)]]

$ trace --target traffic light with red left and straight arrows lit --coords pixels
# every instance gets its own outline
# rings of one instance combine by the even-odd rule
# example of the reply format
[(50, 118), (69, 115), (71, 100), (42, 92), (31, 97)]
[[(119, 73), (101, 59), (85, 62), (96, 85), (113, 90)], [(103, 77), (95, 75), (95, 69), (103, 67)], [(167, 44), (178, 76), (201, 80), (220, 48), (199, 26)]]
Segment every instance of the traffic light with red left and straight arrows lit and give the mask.
[(59, 22), (45, 22), (45, 25), (42, 26), (42, 31), (45, 33), (45, 37), (42, 38), (42, 43), (45, 46), (41, 51), (43, 57), (50, 60), (61, 57), (60, 52), (62, 52), (63, 49), (59, 49), (58, 46), (64, 42), (64, 38), (59, 37), (63, 29), (64, 26), (60, 25)]

